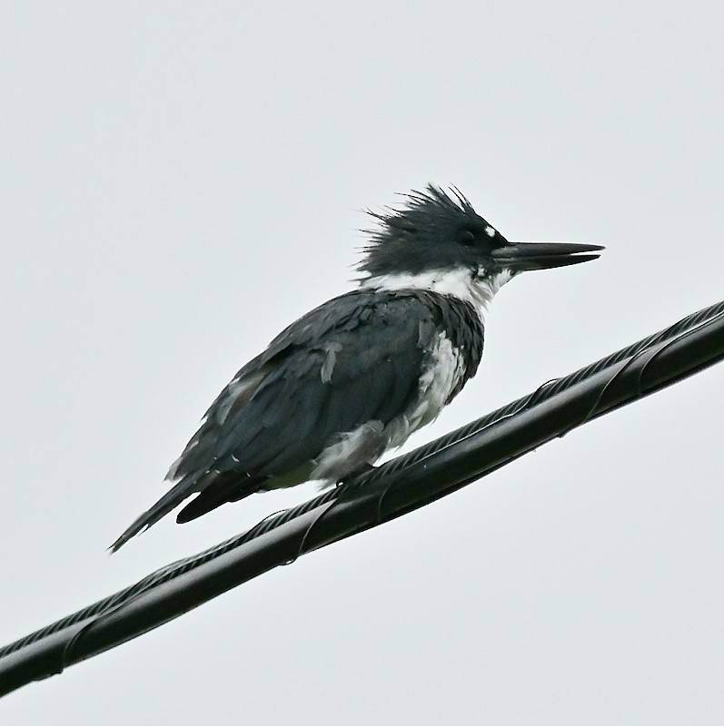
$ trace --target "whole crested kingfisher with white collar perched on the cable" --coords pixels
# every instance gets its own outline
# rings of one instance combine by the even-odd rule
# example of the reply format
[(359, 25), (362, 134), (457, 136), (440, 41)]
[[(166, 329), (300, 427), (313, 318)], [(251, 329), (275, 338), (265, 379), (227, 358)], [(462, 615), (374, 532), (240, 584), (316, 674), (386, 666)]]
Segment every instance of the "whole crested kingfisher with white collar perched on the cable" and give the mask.
[(483, 315), (525, 270), (595, 260), (592, 244), (510, 242), (460, 191), (404, 195), (363, 249), (358, 289), (284, 329), (206, 411), (169, 469), (174, 486), (115, 551), (191, 495), (189, 522), (254, 492), (338, 484), (430, 423), (475, 375)]

